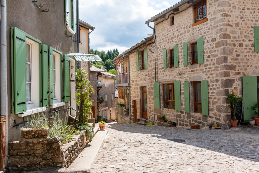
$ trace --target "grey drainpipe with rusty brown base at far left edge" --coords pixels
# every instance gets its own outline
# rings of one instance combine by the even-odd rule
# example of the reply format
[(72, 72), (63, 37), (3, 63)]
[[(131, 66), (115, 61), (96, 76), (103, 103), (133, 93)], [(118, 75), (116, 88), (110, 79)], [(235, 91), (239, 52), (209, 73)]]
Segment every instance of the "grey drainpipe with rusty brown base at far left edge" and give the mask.
[(6, 151), (6, 0), (1, 0), (1, 22), (0, 22), (0, 171), (5, 172)]

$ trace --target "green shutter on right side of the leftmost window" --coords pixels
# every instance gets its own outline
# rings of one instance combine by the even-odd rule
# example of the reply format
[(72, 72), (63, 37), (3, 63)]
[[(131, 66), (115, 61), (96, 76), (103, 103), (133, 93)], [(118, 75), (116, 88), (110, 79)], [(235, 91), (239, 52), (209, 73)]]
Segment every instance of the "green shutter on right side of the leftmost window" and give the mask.
[(48, 105), (48, 46), (46, 44), (42, 44), (42, 59), (41, 59), (41, 67), (42, 67), (42, 82), (41, 82), (41, 90), (42, 90), (42, 103), (41, 106), (45, 107)]

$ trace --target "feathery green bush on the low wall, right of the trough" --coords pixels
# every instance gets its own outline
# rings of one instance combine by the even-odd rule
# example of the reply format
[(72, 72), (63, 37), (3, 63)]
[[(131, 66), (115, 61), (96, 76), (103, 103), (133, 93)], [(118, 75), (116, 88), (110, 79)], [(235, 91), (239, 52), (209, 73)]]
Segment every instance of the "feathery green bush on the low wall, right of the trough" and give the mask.
[(49, 137), (60, 137), (61, 144), (67, 143), (74, 136), (73, 129), (69, 126), (63, 126), (63, 119), (61, 119), (58, 113), (55, 114), (53, 119), (53, 125), (49, 129)]

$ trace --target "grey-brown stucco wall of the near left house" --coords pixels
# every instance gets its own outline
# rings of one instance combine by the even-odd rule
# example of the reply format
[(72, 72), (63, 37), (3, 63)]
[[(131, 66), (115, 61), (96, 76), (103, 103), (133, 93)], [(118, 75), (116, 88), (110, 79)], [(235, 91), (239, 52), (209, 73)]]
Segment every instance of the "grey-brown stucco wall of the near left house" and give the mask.
[[(43, 1), (38, 1), (38, 4), (42, 4)], [(67, 38), (65, 34), (66, 26), (64, 20), (64, 1), (56, 2), (52, 0), (44, 1), (49, 5), (48, 12), (40, 12), (35, 9), (32, 1), (7, 1), (7, 97), (8, 97), (8, 140), (17, 141), (20, 140), (19, 130), (14, 125), (14, 120), (17, 123), (23, 121), (22, 118), (17, 115), (11, 114), (11, 27), (17, 27), (23, 30), (25, 33), (32, 37), (42, 41), (43, 44), (53, 47), (54, 49), (62, 52), (62, 54), (68, 54), (77, 52), (77, 43), (74, 43), (71, 38)], [(75, 40), (76, 40), (75, 36)], [(57, 91), (59, 92), (59, 91)], [(68, 103), (67, 103), (68, 104)], [(59, 107), (56, 109), (63, 109)], [(49, 112), (53, 109), (48, 108), (45, 112)], [(60, 112), (63, 120), (66, 120), (68, 112)], [(30, 116), (27, 116), (30, 119)], [(25, 121), (27, 119), (25, 117)], [(49, 117), (49, 115), (47, 115)], [(22, 124), (21, 124), (22, 125)], [(25, 125), (27, 125), (25, 123)]]

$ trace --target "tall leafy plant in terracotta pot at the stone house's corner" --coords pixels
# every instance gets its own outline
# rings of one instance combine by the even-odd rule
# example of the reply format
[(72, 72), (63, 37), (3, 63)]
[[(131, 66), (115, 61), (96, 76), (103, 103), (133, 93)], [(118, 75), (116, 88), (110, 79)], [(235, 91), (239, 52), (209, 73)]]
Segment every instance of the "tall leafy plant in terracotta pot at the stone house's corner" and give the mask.
[(235, 93), (232, 91), (231, 93), (228, 94), (227, 100), (230, 103), (230, 105), (233, 107), (233, 108), (230, 108), (231, 112), (233, 112), (232, 119), (230, 120), (230, 123), (231, 123), (232, 127), (236, 127), (238, 125), (238, 120), (236, 120), (236, 112), (237, 112), (236, 111), (236, 105), (239, 102), (241, 102), (242, 99), (241, 98), (237, 98)]

